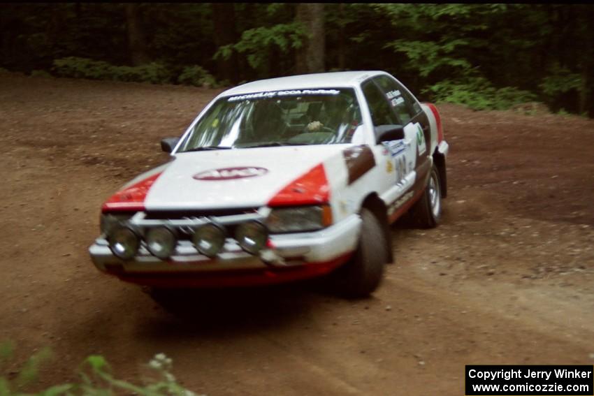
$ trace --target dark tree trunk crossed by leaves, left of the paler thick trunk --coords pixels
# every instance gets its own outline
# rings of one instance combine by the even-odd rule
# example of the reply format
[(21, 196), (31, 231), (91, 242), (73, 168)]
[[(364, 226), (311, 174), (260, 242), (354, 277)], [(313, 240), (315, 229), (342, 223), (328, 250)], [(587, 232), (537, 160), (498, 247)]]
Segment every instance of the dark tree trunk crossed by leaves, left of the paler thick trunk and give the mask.
[[(217, 48), (237, 41), (235, 31), (235, 8), (233, 3), (212, 3), (214, 42)], [(217, 59), (217, 75), (233, 84), (238, 82), (238, 59), (235, 51), (229, 59)]]

